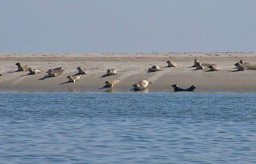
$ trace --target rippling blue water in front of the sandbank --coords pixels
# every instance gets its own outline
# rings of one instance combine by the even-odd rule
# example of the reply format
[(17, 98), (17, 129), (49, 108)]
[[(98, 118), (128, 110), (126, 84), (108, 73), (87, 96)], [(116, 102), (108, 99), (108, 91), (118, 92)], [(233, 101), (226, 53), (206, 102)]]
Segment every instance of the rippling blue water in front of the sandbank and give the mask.
[(256, 93), (0, 97), (0, 163), (256, 163)]

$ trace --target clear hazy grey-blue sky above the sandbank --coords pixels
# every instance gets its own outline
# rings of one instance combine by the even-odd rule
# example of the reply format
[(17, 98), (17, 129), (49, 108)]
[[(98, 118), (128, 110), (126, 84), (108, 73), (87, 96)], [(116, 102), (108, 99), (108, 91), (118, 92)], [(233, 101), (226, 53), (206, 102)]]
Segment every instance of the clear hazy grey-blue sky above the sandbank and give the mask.
[(255, 0), (1, 0), (0, 52), (256, 51)]

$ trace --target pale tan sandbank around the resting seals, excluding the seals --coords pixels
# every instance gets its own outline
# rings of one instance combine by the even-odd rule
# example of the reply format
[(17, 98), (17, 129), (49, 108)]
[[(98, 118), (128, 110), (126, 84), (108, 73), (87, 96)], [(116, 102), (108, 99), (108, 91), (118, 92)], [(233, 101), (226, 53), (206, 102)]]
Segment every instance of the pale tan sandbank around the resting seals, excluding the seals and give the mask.
[[(196, 86), (196, 91), (255, 91), (256, 71), (235, 71), (234, 63), (244, 59), (256, 63), (256, 52), (227, 53), (105, 53), (105, 54), (0, 54), (0, 86), (2, 90), (51, 90), (51, 91), (129, 91), (140, 80), (153, 81), (150, 91), (173, 91), (171, 85), (180, 87)], [(208, 63), (221, 65), (221, 71), (206, 72), (192, 68), (195, 58)], [(177, 67), (166, 67), (172, 60)], [(16, 62), (45, 71), (36, 75), (27, 75), (17, 70)], [(45, 78), (50, 67), (62, 65), (66, 69), (63, 75)], [(164, 67), (163, 71), (147, 73), (153, 65)], [(75, 83), (65, 83), (68, 75), (78, 72), (76, 68), (86, 67), (88, 75), (82, 75)], [(106, 70), (114, 68), (117, 75), (102, 77)], [(12, 73), (10, 73), (12, 72)], [(106, 80), (118, 79), (120, 82), (112, 89), (104, 88)], [(64, 84), (62, 84), (64, 83)]]

